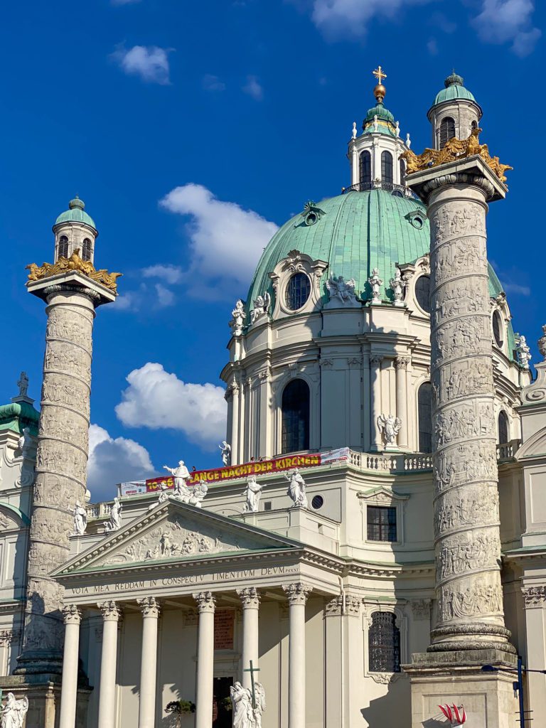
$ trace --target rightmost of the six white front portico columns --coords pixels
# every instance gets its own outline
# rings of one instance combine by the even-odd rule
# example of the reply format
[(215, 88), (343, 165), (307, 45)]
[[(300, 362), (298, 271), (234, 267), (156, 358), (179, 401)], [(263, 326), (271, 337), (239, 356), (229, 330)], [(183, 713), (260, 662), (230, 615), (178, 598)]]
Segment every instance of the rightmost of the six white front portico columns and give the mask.
[(282, 587), (288, 597), (288, 728), (305, 728), (305, 604), (312, 587), (301, 582)]

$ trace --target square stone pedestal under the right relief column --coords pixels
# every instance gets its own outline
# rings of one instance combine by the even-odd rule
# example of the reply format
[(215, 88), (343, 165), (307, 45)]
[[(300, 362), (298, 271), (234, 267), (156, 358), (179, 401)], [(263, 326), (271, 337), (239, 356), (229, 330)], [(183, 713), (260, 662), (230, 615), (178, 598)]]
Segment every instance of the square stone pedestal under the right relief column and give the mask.
[(403, 665), (411, 683), (411, 728), (445, 728), (438, 705), (464, 705), (468, 725), (513, 728), (518, 712), (516, 673), (484, 672), (517, 666), (515, 654), (499, 649), (453, 650), (412, 654)]

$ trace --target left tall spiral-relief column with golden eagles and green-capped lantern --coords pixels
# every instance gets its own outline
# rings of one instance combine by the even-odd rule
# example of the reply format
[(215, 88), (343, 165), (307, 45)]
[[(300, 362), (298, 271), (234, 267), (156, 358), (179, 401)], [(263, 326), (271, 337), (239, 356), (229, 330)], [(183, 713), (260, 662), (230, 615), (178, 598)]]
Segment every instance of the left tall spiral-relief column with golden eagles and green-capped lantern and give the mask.
[(68, 560), (74, 509), (84, 505), (95, 308), (116, 298), (117, 274), (91, 262), (94, 224), (72, 200), (53, 228), (55, 263), (28, 266), (27, 288), (47, 304), (47, 329), (19, 674), (62, 672), (63, 587), (50, 574)]

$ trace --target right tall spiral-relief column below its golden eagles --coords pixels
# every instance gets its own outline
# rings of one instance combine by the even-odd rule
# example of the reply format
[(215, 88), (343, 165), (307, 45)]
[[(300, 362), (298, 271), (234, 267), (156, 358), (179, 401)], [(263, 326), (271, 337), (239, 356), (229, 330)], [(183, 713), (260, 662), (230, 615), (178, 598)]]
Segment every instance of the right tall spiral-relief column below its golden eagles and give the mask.
[[(416, 697), (414, 690), (416, 662), (423, 668), (456, 663), (458, 675), (465, 683), (451, 684), (448, 692), (451, 697), (459, 695), (464, 703), (464, 695), (472, 692), (472, 683), (467, 682), (469, 675), (462, 668), (481, 676), (481, 664), (512, 662), (515, 652), (508, 642), (510, 632), (505, 628), (500, 579), (486, 250), (487, 203), (504, 197), (506, 188), (486, 161), (474, 154), (439, 167), (424, 165), (423, 171), (414, 174), (411, 169), (408, 165), (408, 183), (427, 203), (431, 224), (432, 448), (438, 616), (427, 654), (414, 655), (408, 671), (412, 675), (415, 703), (424, 705), (423, 695)], [(505, 726), (508, 719), (502, 718), (502, 713), (508, 709), (510, 696), (502, 680), (494, 679), (498, 684), (496, 692), (487, 697), (487, 709), (483, 714), (478, 710), (473, 717), (479, 716), (477, 724), (484, 726)], [(483, 690), (479, 680), (473, 687), (475, 692)], [(499, 722), (491, 722), (497, 719)], [(414, 716), (415, 726), (421, 725), (419, 720)]]

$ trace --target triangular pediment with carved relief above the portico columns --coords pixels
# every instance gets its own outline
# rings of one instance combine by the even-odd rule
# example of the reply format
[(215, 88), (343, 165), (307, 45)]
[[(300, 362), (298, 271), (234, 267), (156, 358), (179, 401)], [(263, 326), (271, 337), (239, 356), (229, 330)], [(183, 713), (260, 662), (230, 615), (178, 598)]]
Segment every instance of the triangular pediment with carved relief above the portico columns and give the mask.
[(108, 534), (53, 576), (302, 548), (303, 544), (174, 499)]

